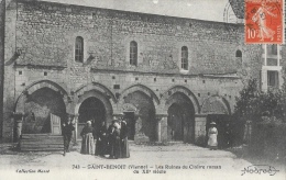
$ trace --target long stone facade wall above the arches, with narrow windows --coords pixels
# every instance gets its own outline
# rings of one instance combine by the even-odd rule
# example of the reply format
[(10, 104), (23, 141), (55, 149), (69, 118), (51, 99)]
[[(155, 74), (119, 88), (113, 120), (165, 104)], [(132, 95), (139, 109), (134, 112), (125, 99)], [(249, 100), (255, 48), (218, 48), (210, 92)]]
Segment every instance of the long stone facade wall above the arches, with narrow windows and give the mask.
[[(18, 97), (43, 80), (66, 90), (69, 112), (79, 105), (74, 92), (97, 83), (106, 89), (102, 94), (118, 94), (110, 100), (113, 113), (121, 112), (124, 92), (141, 85), (142, 91), (157, 98), (152, 98), (156, 114), (166, 114), (165, 94), (173, 87), (188, 89), (198, 109), (216, 94), (233, 111), (243, 83), (260, 77), (261, 46), (244, 45), (242, 25), (48, 2), (20, 1), (18, 10), (14, 3), (9, 5), (6, 61), (15, 53), (20, 56), (14, 67), (6, 66), (6, 137), (11, 134)], [(77, 36), (85, 42), (82, 64), (74, 60)], [(131, 41), (139, 44), (138, 66), (129, 65)], [(183, 46), (189, 50), (187, 71), (179, 68)], [(235, 57), (238, 49), (242, 58)]]

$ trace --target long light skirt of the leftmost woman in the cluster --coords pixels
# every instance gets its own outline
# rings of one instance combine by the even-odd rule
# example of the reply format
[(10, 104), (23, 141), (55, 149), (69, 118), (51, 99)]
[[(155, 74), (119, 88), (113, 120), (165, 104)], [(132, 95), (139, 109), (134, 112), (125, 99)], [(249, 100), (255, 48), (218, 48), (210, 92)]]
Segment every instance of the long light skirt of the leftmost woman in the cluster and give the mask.
[(94, 155), (96, 150), (92, 133), (82, 135), (80, 154)]

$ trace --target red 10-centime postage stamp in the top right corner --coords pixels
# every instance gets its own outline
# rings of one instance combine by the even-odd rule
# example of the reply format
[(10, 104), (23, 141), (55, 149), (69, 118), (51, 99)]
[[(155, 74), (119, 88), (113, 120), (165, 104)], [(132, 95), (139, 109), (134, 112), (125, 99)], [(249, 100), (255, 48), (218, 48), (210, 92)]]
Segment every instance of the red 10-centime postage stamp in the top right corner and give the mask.
[(284, 0), (245, 0), (245, 43), (284, 43)]

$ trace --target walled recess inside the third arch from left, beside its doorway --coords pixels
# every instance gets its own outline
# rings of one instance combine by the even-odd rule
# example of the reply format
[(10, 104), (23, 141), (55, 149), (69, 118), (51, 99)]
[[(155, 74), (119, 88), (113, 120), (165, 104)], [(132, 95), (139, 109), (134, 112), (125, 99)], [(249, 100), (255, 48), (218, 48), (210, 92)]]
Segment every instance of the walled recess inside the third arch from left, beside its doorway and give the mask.
[(124, 98), (124, 103), (130, 103), (136, 109), (136, 112), (124, 112), (129, 121), (129, 132), (133, 134), (130, 138), (138, 142), (155, 140), (156, 122), (153, 100), (141, 91), (134, 91)]

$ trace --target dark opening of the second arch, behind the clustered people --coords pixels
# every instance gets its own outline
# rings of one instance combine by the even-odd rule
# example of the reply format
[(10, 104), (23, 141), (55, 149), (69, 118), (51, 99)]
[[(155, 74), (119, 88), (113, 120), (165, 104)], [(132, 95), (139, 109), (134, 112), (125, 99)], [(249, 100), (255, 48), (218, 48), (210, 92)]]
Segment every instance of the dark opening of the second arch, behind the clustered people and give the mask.
[(87, 98), (78, 110), (78, 137), (87, 121), (91, 121), (95, 128), (98, 128), (101, 122), (106, 122), (106, 112), (102, 101), (95, 97)]

